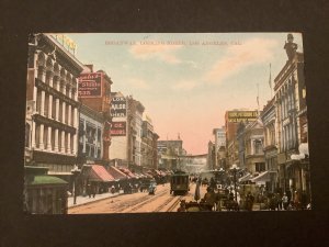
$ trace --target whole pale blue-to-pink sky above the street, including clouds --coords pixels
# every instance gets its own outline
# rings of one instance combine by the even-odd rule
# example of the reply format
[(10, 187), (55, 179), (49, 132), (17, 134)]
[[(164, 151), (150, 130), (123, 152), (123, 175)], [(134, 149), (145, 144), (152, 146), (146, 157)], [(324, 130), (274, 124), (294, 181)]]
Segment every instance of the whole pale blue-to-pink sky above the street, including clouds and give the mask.
[[(287, 60), (287, 33), (66, 35), (77, 44), (82, 64), (111, 77), (112, 91), (143, 103), (159, 139), (177, 139), (179, 134), (193, 155), (207, 153), (226, 111), (257, 110), (258, 93), (261, 110)], [(302, 34), (293, 35), (297, 52), (303, 52)]]

